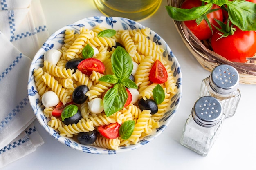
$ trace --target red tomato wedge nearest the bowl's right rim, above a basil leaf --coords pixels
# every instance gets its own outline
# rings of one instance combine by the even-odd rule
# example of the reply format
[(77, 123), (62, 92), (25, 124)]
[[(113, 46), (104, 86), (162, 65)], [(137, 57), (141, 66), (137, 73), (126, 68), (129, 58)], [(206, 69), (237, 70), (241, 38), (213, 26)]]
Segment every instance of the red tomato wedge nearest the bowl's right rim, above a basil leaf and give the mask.
[(161, 84), (167, 81), (167, 77), (166, 68), (159, 60), (156, 60), (150, 70), (149, 80), (153, 83)]

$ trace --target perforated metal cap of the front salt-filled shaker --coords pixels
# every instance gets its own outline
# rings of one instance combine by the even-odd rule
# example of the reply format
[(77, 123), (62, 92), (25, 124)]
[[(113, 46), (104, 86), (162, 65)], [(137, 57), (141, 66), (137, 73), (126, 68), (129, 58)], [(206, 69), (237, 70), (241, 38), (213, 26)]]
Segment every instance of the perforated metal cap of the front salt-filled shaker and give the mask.
[(222, 105), (215, 97), (200, 97), (192, 108), (192, 117), (203, 127), (213, 127), (222, 117)]

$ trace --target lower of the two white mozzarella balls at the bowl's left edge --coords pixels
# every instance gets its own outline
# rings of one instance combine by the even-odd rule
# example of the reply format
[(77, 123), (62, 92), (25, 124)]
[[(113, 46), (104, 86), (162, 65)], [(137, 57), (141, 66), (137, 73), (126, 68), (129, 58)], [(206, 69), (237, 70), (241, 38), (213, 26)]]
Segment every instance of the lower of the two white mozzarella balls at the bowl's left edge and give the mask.
[(58, 95), (53, 91), (47, 91), (42, 95), (42, 104), (46, 107), (56, 106), (60, 102)]

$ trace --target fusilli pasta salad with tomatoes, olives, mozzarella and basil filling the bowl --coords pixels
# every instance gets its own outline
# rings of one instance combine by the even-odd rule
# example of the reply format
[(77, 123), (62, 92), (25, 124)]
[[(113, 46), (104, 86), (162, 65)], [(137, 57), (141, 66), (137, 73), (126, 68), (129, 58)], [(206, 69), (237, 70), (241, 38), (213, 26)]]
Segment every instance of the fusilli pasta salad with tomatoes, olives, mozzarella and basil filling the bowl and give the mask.
[(47, 51), (34, 70), (48, 125), (113, 150), (159, 128), (176, 84), (164, 49), (149, 36), (149, 28), (67, 29), (61, 49)]

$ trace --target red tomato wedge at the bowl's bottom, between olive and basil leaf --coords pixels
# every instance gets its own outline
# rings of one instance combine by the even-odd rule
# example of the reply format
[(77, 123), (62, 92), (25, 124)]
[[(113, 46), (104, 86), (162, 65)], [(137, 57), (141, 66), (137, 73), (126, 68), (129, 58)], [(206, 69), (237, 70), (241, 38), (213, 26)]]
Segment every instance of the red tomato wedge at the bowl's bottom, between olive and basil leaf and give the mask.
[(99, 133), (108, 139), (115, 139), (119, 137), (119, 128), (120, 124), (115, 123), (115, 124), (109, 124), (109, 125), (103, 125), (98, 127)]

